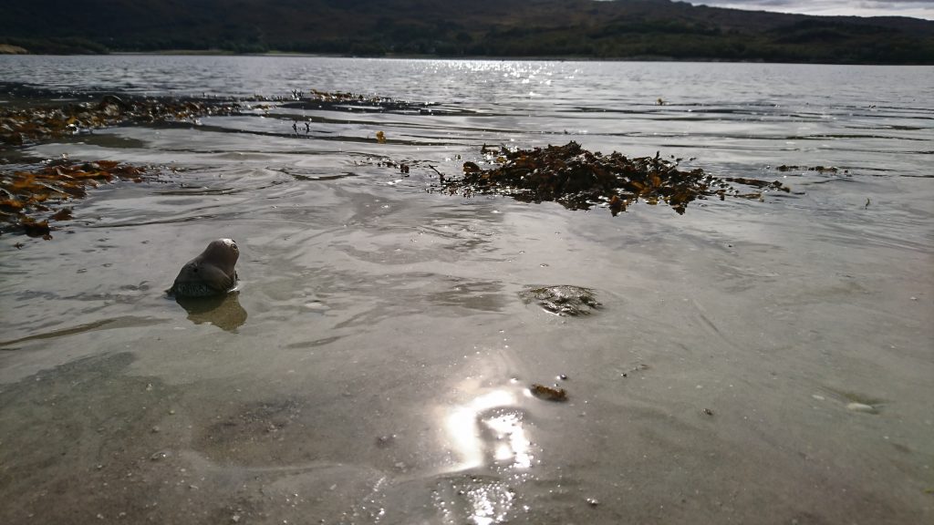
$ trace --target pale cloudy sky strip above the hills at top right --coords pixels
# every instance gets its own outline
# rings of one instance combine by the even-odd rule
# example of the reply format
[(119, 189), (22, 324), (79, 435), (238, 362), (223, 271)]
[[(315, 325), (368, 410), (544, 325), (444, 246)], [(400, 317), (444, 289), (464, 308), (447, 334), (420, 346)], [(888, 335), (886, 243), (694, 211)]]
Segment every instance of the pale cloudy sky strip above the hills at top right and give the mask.
[(809, 15), (902, 16), (934, 20), (934, 0), (688, 0), (688, 3)]

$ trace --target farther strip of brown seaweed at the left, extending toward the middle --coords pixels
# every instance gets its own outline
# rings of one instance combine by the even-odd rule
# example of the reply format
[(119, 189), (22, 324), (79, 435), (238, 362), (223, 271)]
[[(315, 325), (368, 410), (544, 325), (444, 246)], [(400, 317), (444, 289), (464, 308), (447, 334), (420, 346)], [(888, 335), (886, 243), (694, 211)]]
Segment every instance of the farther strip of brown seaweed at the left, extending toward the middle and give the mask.
[(0, 107), (0, 142), (76, 135), (125, 122), (189, 121), (207, 115), (233, 115), (240, 105), (230, 101), (170, 98), (122, 100), (106, 95), (97, 103), (64, 106)]

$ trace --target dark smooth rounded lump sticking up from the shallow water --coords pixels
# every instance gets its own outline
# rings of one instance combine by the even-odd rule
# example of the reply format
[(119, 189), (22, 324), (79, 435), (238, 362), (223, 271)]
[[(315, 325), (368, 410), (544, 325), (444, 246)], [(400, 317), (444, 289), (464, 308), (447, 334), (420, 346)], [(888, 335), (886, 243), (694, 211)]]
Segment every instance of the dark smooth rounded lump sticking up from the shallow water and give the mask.
[(176, 297), (209, 297), (231, 291), (236, 285), (233, 266), (240, 257), (233, 239), (211, 241), (205, 251), (185, 263), (169, 289)]

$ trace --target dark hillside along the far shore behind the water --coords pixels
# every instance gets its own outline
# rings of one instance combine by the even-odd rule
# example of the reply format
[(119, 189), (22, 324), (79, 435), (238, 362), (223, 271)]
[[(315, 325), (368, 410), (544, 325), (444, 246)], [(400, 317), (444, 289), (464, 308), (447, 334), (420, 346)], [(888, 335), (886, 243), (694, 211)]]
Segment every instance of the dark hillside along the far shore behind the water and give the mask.
[[(72, 4), (35, 0), (5, 9), (0, 54), (934, 64), (934, 21), (668, 0), (478, 0), (470, 9), (446, 0), (244, 0), (237, 9), (222, 0), (185, 7), (130, 0)], [(56, 16), (36, 20), (36, 12)]]

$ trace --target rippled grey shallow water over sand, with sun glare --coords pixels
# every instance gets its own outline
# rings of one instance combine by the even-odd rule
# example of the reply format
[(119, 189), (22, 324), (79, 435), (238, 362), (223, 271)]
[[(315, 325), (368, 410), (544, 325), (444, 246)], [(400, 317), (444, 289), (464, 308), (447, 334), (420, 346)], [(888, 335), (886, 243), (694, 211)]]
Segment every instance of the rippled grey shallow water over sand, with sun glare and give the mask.
[[(0, 81), (411, 103), (5, 151), (164, 168), (92, 192), (51, 241), (0, 237), (4, 523), (934, 513), (932, 68), (0, 57)], [(792, 192), (613, 218), (426, 191), (485, 143), (568, 140)], [(238, 291), (166, 298), (218, 237)], [(523, 301), (549, 285), (601, 307)]]

